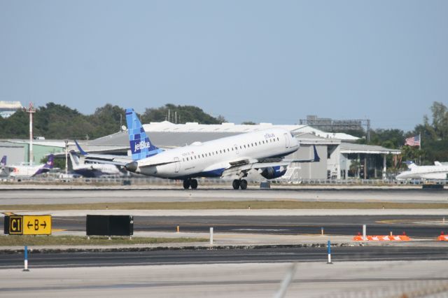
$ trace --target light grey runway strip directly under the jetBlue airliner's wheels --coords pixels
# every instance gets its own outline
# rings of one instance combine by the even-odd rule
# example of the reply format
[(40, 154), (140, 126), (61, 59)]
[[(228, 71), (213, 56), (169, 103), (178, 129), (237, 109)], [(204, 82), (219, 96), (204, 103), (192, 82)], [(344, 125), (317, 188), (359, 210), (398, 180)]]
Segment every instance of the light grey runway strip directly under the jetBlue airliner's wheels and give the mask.
[(1, 190), (0, 205), (10, 204), (88, 204), (151, 201), (388, 201), (447, 203), (447, 190)]

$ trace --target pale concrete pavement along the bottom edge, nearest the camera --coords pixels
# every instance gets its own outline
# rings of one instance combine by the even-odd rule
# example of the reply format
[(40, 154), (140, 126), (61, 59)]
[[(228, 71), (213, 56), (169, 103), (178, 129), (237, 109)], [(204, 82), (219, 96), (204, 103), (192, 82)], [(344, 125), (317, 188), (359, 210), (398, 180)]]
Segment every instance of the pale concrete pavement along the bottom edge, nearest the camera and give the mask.
[[(448, 261), (187, 264), (1, 270), (2, 297), (442, 297)], [(437, 296), (439, 295), (439, 296)]]

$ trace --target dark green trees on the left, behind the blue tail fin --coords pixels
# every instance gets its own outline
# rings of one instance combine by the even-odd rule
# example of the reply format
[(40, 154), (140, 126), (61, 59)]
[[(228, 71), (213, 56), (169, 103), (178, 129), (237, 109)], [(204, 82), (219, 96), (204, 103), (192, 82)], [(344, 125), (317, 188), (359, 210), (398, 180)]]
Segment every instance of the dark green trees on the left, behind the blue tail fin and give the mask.
[[(196, 106), (174, 104), (160, 108), (146, 108), (143, 114), (137, 115), (143, 123), (149, 123), (168, 120), (168, 114), (171, 122), (177, 123), (225, 122), (223, 116), (215, 118)], [(125, 109), (111, 104), (97, 108), (92, 115), (83, 115), (76, 109), (50, 102), (36, 108), (36, 113), (33, 115), (33, 134), (44, 136), (45, 139), (97, 139), (119, 132), (121, 125), (126, 125)], [(29, 114), (20, 110), (9, 118), (0, 117), (0, 128), (0, 139), (27, 139)]]

